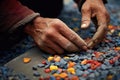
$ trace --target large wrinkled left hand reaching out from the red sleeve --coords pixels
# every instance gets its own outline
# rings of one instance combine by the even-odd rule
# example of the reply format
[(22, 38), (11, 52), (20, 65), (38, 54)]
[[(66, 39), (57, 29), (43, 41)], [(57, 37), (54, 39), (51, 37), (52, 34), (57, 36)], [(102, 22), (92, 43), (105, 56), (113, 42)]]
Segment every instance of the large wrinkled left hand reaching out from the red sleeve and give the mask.
[(25, 27), (40, 49), (51, 54), (86, 50), (86, 43), (59, 19), (37, 17)]

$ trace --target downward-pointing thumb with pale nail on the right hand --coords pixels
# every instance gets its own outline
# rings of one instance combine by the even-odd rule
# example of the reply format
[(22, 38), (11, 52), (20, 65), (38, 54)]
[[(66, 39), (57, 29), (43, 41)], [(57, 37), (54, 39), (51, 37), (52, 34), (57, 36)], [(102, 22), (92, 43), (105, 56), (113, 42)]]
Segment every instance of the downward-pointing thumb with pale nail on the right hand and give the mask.
[(81, 13), (82, 13), (81, 28), (88, 28), (91, 21), (91, 11), (89, 8), (83, 8), (81, 10)]

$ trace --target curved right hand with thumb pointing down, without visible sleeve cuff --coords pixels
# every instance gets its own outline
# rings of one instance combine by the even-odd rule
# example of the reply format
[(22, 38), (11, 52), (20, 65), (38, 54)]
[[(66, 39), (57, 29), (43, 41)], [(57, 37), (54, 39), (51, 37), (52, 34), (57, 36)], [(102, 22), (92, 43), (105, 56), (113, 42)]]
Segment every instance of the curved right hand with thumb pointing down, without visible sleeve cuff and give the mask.
[(88, 42), (88, 47), (92, 48), (105, 37), (110, 20), (109, 14), (102, 0), (86, 0), (82, 5), (81, 13), (81, 28), (87, 28), (92, 20), (97, 29), (93, 38)]

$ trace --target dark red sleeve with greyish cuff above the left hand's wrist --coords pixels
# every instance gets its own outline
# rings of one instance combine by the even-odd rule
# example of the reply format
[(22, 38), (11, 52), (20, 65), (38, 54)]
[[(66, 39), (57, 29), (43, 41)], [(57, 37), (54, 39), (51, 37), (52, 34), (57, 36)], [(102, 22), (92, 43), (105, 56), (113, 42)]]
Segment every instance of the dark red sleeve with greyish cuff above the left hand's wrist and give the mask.
[(36, 16), (39, 16), (39, 13), (23, 6), (18, 0), (2, 0), (0, 1), (0, 33), (12, 32)]

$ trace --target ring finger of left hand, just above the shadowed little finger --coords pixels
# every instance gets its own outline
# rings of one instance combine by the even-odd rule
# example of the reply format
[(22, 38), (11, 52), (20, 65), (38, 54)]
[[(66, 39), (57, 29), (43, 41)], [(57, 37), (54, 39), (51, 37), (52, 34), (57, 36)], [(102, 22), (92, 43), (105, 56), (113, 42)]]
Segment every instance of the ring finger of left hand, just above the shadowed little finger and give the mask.
[(47, 41), (45, 42), (45, 46), (48, 46), (49, 48), (53, 49), (54, 51), (56, 51), (58, 54), (62, 54), (64, 53), (64, 50), (59, 47), (59, 45), (53, 43), (52, 41), (50, 41), (49, 39), (47, 39)]

